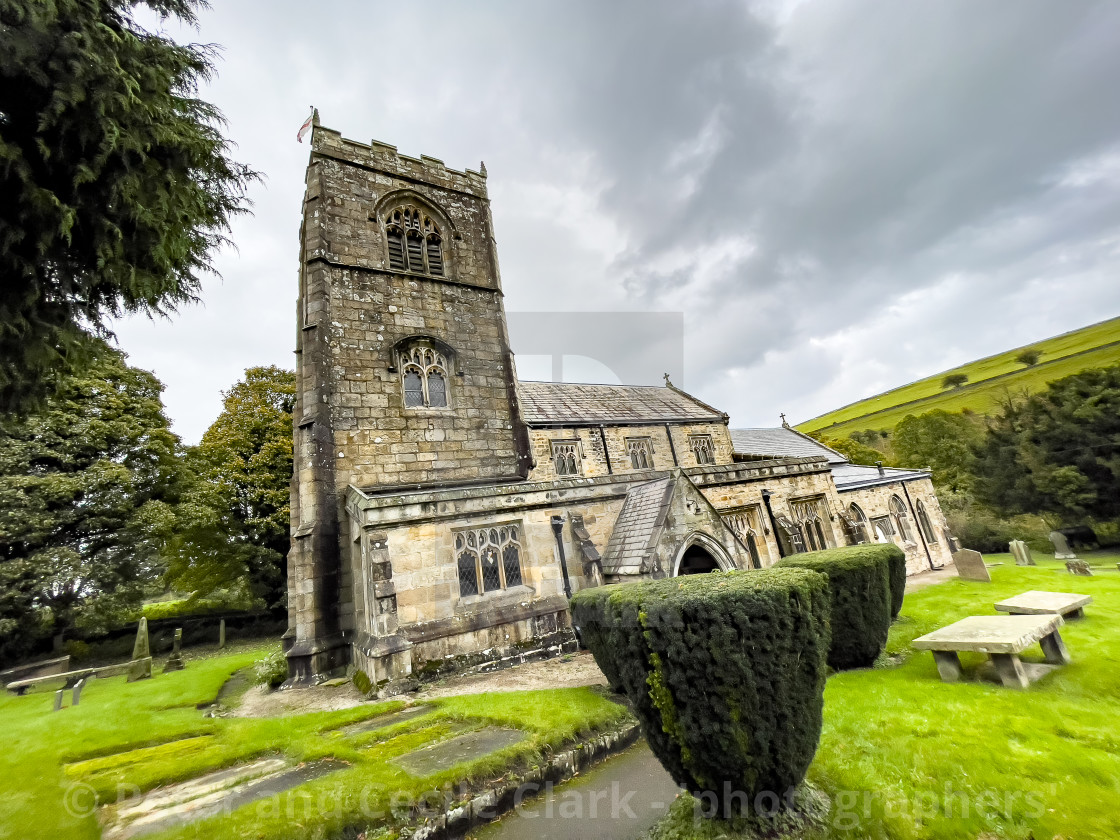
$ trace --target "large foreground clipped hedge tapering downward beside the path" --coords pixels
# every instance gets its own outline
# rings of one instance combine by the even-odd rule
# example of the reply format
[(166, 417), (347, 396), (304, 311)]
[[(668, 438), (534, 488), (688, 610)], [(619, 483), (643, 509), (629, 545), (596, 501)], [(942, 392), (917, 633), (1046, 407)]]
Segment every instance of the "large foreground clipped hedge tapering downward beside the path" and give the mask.
[(721, 815), (780, 796), (816, 753), (828, 579), (767, 569), (585, 589), (572, 618), (673, 780)]

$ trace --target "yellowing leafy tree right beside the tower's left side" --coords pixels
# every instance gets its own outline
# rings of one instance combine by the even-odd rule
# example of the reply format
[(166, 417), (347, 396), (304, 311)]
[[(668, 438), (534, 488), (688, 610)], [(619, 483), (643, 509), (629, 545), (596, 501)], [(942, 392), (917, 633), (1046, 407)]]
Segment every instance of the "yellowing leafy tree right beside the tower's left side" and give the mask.
[(296, 375), (250, 367), (224, 394), (222, 413), (190, 452), (192, 489), (171, 542), (176, 588), (207, 595), (245, 589), (284, 604)]

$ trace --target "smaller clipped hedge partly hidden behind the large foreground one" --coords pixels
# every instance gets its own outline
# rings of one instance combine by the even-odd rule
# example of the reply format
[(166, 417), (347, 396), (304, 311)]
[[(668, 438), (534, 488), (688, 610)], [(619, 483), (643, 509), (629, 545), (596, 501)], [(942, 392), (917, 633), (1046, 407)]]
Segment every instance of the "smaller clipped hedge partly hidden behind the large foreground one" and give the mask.
[[(894, 549), (894, 551), (892, 551)], [(783, 558), (778, 568), (812, 569), (827, 575), (831, 591), (832, 643), (829, 664), (838, 671), (869, 668), (883, 652), (890, 631), (892, 573), (895, 552), (903, 558), (902, 588), (906, 587), (906, 556), (897, 545), (848, 545)], [(902, 607), (902, 594), (897, 598)]]

